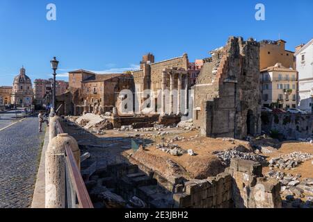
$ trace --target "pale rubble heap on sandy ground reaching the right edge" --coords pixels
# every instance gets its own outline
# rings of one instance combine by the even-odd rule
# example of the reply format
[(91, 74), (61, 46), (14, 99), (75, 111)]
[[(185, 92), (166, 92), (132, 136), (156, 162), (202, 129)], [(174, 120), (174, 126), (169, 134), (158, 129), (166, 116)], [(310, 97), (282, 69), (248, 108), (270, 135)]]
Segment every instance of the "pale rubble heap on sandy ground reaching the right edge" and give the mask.
[(269, 161), (268, 167), (277, 168), (281, 170), (294, 169), (295, 167), (298, 167), (298, 165), (301, 164), (302, 162), (312, 159), (313, 155), (310, 153), (294, 152), (290, 153), (289, 155), (272, 158)]

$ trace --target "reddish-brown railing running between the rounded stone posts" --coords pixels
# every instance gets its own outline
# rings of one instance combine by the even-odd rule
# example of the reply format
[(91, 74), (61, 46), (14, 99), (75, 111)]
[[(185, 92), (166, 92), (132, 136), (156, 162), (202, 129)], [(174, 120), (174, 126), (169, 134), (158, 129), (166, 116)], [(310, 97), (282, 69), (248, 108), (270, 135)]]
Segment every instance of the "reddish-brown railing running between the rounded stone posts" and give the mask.
[[(56, 121), (57, 133), (64, 133), (61, 123)], [(69, 145), (65, 146), (65, 202), (67, 208), (93, 208), (85, 182)]]

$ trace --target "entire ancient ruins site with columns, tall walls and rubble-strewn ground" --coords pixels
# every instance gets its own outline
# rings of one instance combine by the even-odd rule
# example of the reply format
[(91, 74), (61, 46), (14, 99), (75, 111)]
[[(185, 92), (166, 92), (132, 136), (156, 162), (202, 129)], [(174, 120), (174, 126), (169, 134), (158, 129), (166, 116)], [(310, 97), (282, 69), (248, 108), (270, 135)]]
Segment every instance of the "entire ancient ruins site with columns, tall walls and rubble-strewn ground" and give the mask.
[(260, 47), (229, 37), (198, 69), (147, 53), (136, 71), (70, 71), (46, 173), (67, 138), (95, 208), (312, 208), (312, 115), (262, 110)]

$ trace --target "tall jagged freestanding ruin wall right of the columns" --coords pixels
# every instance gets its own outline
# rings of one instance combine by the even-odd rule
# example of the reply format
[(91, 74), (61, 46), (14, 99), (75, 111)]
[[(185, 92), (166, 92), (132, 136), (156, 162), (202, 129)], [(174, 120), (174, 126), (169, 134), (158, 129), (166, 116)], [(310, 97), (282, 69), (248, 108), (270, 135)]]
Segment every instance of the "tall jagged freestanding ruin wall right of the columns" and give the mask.
[(226, 46), (212, 51), (195, 85), (194, 123), (210, 137), (247, 136), (260, 133), (259, 43), (230, 37)]

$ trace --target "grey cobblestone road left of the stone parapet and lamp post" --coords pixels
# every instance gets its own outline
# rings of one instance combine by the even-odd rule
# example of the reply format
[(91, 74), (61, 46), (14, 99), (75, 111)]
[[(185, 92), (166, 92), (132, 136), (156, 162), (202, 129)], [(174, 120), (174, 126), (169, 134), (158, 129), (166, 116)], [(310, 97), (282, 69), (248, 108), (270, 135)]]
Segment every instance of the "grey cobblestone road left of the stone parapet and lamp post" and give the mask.
[[(0, 130), (12, 123), (1, 121)], [(0, 208), (31, 206), (44, 137), (35, 117), (0, 131)]]

